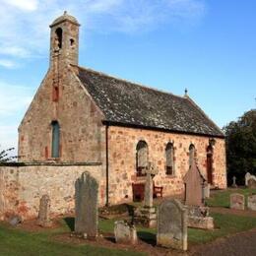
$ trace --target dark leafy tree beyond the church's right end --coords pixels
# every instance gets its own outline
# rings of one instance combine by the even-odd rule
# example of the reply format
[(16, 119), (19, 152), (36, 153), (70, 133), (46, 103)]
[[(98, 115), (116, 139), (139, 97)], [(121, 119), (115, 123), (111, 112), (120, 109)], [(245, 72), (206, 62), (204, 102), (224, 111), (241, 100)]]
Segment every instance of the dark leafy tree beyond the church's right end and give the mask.
[(230, 122), (224, 131), (228, 183), (235, 176), (237, 184), (243, 185), (246, 172), (256, 174), (256, 109)]

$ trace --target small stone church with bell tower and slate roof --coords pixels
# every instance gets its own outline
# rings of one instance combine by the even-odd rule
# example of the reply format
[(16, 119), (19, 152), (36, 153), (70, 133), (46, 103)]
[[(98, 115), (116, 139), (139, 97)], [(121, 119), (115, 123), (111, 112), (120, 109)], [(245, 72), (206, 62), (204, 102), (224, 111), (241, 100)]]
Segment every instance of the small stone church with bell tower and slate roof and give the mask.
[(224, 189), (222, 130), (187, 93), (80, 67), (79, 28), (66, 12), (50, 25), (49, 69), (19, 127), (19, 161), (51, 165), (60, 183), (61, 166), (96, 165), (100, 205), (131, 202), (149, 162), (159, 169), (154, 181), (163, 196), (184, 192), (193, 160), (212, 187)]

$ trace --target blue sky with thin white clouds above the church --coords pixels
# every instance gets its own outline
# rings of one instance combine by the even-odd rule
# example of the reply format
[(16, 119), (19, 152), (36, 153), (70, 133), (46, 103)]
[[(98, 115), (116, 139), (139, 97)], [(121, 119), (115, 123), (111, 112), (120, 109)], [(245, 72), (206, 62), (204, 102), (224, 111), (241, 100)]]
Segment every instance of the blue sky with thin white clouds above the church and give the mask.
[(182, 96), (220, 126), (256, 107), (255, 0), (0, 0), (0, 145), (48, 68), (48, 25), (81, 23), (80, 65)]

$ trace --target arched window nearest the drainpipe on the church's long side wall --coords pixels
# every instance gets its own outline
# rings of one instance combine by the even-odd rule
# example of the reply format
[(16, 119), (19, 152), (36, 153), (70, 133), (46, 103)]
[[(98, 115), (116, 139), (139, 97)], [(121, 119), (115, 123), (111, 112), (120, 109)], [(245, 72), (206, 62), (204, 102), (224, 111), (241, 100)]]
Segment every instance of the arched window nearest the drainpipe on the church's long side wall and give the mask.
[(143, 169), (148, 166), (149, 149), (145, 141), (139, 141), (136, 147), (137, 176), (143, 176)]

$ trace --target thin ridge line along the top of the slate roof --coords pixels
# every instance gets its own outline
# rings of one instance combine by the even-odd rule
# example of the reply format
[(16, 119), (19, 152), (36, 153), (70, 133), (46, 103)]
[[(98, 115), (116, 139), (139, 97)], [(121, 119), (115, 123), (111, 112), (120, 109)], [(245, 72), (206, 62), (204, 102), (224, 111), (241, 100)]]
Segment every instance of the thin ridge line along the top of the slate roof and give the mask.
[[(104, 77), (108, 77), (108, 78), (112, 78), (112, 79), (115, 79), (115, 80), (118, 80), (118, 81), (122, 81), (122, 82), (128, 83), (130, 85), (139, 86), (139, 87), (149, 89), (149, 90), (153, 90), (155, 92), (159, 92), (159, 93), (165, 94), (165, 95), (176, 96), (176, 95), (174, 95), (170, 92), (165, 92), (165, 91), (162, 91), (160, 89), (156, 89), (154, 87), (146, 86), (146, 85), (143, 85), (143, 84), (140, 84), (140, 83), (137, 83), (137, 82), (133, 82), (133, 81), (129, 81), (129, 80), (126, 80), (126, 79), (119, 78), (119, 77), (115, 77), (113, 75), (109, 75), (109, 74), (106, 74), (106, 73), (103, 73), (103, 72), (100, 72), (100, 71), (96, 71), (96, 70), (91, 69), (91, 68), (81, 67), (81, 66), (77, 66), (77, 65), (74, 65), (74, 64), (70, 64), (70, 65), (74, 66), (74, 67), (78, 67), (80, 69), (84, 69), (84, 70), (87, 70), (87, 71), (94, 72), (94, 73), (99, 74), (99, 75), (104, 76)], [(176, 97), (186, 99), (184, 96), (176, 96)]]

